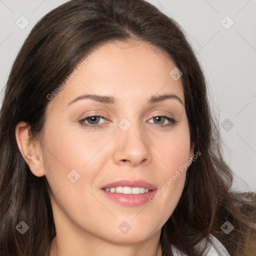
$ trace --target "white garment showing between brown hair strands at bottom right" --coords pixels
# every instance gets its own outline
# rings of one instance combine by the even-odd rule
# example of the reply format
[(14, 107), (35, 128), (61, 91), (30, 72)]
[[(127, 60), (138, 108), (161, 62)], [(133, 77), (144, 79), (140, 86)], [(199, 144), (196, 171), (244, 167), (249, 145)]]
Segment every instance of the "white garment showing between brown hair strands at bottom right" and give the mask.
[[(224, 245), (215, 236), (209, 234), (209, 238), (209, 244), (203, 254), (204, 256), (230, 256)], [(203, 246), (204, 242), (205, 239), (196, 244), (196, 246)], [(171, 245), (171, 248), (174, 256), (186, 256), (186, 254), (180, 252), (175, 246)]]

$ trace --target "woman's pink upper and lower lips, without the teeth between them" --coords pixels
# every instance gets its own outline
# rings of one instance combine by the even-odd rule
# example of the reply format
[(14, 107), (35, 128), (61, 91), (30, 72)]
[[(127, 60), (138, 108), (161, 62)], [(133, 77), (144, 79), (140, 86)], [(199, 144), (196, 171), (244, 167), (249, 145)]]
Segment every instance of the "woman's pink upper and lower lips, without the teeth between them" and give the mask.
[[(149, 191), (147, 193), (142, 193), (142, 194), (123, 194), (123, 193), (116, 193), (116, 192), (107, 192), (104, 190), (104, 188), (111, 188), (111, 187), (117, 187), (117, 186), (144, 187), (152, 191)], [(119, 181), (115, 181), (115, 182), (103, 185), (100, 189), (108, 199), (118, 204), (121, 204), (123, 206), (129, 206), (129, 207), (135, 207), (135, 206), (142, 205), (146, 202), (149, 202), (149, 197), (153, 196), (153, 194), (157, 190), (156, 186), (141, 179), (139, 180), (122, 179)]]

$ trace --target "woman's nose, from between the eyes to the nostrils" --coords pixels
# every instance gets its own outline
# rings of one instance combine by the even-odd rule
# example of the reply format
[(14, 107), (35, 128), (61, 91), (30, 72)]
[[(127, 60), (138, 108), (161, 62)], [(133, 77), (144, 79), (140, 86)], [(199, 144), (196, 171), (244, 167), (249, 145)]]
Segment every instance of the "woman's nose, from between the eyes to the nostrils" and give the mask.
[[(114, 141), (113, 160), (116, 164), (128, 164), (136, 166), (138, 164), (145, 165), (151, 162), (152, 154), (150, 140), (146, 132), (143, 132), (138, 122), (135, 123), (119, 123), (117, 134)], [(131, 125), (126, 131), (122, 128), (122, 124)], [(121, 128), (120, 128), (121, 127)], [(126, 127), (127, 128), (127, 127)]]

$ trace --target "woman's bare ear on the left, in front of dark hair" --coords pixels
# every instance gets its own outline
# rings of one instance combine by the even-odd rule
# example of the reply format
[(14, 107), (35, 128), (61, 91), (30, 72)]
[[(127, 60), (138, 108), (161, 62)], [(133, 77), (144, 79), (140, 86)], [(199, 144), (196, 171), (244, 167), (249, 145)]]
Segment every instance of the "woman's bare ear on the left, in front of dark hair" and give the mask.
[(29, 166), (31, 172), (37, 176), (43, 176), (43, 162), (40, 141), (29, 135), (30, 126), (27, 122), (20, 121), (15, 127), (15, 137), (20, 153)]

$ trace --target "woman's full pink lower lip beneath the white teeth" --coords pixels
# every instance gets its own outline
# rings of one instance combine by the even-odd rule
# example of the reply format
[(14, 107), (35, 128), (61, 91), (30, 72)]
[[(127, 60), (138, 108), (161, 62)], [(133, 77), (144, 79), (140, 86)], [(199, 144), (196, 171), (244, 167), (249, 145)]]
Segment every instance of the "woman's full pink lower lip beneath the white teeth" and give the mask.
[(156, 189), (143, 193), (143, 194), (123, 194), (123, 193), (115, 193), (115, 192), (107, 192), (104, 189), (101, 189), (103, 193), (112, 201), (115, 201), (121, 205), (125, 206), (139, 206), (146, 202), (149, 202), (149, 197), (153, 196)]

